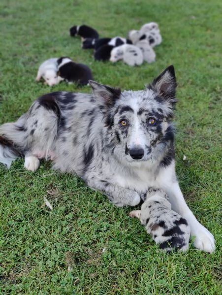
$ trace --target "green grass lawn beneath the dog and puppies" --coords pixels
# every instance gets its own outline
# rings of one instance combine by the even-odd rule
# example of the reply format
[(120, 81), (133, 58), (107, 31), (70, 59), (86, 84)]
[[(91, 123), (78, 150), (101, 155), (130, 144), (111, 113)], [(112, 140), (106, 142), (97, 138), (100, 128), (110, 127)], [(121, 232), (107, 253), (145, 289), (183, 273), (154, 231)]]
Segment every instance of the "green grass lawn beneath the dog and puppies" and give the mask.
[[(221, 11), (221, 0), (1, 0), (0, 124), (51, 91), (34, 82), (47, 58), (70, 56), (91, 66), (96, 81), (136, 90), (174, 64), (178, 178), (217, 249), (166, 255), (128, 217), (132, 208), (116, 208), (50, 163), (30, 173), (18, 160), (0, 166), (0, 294), (221, 294)], [(163, 42), (156, 63), (135, 68), (95, 62), (68, 34), (85, 23), (101, 36), (125, 36), (149, 21), (159, 23)], [(54, 90), (91, 91), (64, 83)]]

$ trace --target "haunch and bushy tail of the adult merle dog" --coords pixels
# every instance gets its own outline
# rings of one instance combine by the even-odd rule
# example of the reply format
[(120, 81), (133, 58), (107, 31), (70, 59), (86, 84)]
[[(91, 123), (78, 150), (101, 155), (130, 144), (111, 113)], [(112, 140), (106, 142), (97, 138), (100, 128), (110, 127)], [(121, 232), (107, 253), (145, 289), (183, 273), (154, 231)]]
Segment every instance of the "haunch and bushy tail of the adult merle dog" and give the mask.
[(9, 168), (19, 157), (50, 157), (57, 138), (60, 117), (56, 97), (48, 94), (38, 98), (17, 122), (1, 125), (0, 163)]

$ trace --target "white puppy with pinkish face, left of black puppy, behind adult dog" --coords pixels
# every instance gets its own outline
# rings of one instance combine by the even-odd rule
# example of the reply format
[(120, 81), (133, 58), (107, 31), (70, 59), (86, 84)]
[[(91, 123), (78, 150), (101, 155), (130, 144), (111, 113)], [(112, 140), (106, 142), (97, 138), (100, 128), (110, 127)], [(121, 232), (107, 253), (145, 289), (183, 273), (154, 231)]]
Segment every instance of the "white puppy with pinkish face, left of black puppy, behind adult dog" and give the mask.
[(45, 80), (45, 84), (49, 86), (58, 84), (57, 60), (57, 58), (52, 58), (43, 62), (38, 68), (35, 80), (40, 81), (40, 79), (43, 78)]

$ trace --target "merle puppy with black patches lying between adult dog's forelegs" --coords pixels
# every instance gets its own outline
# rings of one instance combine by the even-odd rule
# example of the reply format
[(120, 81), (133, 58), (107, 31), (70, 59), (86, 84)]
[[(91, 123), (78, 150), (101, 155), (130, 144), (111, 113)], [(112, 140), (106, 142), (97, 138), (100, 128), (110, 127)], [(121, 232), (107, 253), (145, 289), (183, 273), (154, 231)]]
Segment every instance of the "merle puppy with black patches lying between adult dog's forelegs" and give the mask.
[(171, 210), (168, 196), (159, 189), (148, 190), (141, 210), (129, 213), (140, 219), (159, 248), (165, 251), (186, 251), (189, 247), (190, 227), (187, 220)]

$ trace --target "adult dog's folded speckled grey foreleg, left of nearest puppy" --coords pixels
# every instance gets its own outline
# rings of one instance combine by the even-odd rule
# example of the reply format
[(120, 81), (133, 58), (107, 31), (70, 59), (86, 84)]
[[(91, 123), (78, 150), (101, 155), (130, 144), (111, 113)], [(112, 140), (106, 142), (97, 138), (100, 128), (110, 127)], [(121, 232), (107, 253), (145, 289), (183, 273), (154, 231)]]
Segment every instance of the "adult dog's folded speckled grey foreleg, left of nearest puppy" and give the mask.
[(117, 207), (135, 206), (140, 202), (140, 196), (135, 191), (113, 185), (105, 180), (88, 180), (87, 185), (90, 188), (101, 191)]

